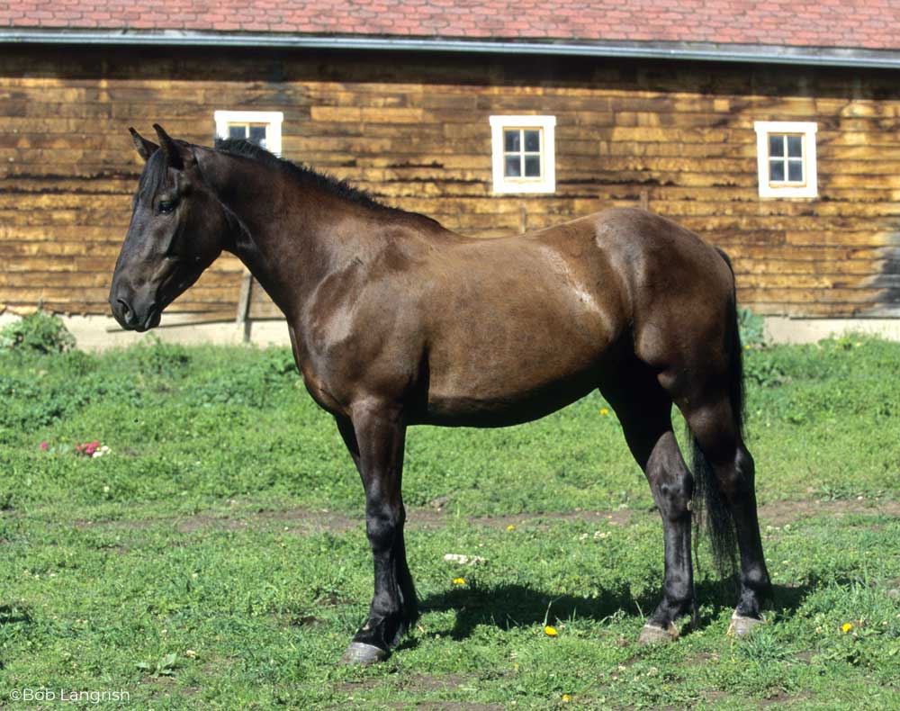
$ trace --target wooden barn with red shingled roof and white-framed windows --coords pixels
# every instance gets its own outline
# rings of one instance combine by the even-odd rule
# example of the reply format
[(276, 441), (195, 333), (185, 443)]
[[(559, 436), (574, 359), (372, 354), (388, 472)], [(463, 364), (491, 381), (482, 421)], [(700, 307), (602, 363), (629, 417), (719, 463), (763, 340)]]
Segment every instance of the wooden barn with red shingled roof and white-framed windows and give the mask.
[[(124, 342), (128, 127), (247, 138), (491, 238), (621, 205), (733, 257), (786, 333), (900, 315), (896, 0), (0, 4), (0, 310)], [(284, 337), (223, 257), (172, 338)], [(863, 320), (863, 321), (860, 321)], [(267, 334), (267, 336), (266, 336)]]

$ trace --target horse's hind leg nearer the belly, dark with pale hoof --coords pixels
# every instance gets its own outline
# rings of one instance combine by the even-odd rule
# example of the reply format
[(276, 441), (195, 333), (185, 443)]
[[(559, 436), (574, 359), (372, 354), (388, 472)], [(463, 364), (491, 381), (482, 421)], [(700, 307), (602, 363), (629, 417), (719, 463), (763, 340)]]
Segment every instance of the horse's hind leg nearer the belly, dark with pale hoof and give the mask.
[(646, 644), (676, 639), (675, 622), (695, 611), (689, 508), (693, 483), (672, 432), (671, 398), (645, 366), (635, 363), (624, 370), (617, 369), (601, 383), (600, 392), (616, 410), (632, 455), (650, 483), (665, 542), (662, 601), (641, 632), (640, 642)]

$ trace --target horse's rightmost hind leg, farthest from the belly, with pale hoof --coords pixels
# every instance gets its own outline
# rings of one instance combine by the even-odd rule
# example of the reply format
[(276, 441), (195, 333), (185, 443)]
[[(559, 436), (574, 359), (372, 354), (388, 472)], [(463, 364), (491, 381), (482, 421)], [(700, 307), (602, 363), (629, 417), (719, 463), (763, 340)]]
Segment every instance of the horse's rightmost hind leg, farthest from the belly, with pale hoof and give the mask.
[[(707, 487), (711, 489), (711, 496), (721, 497), (727, 508), (726, 515), (730, 514), (734, 521), (734, 535), (741, 556), (741, 592), (729, 631), (743, 635), (761, 621), (761, 605), (771, 594), (756, 511), (753, 457), (744, 446), (739, 420), (727, 393), (723, 392), (706, 404), (682, 407), (682, 412), (699, 448), (695, 468), (712, 470), (712, 481), (707, 482)], [(702, 475), (699, 471), (695, 473)], [(707, 503), (707, 509), (712, 508)], [(716, 516), (716, 511), (707, 511), (707, 516)], [(731, 523), (721, 523), (727, 538)]]

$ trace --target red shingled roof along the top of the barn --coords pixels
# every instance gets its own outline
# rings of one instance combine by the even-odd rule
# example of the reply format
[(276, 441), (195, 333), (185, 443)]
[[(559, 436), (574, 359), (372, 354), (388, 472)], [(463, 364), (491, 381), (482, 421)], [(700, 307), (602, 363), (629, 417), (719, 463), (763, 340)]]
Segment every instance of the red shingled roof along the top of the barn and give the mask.
[(4, 27), (900, 49), (900, 0), (14, 0)]

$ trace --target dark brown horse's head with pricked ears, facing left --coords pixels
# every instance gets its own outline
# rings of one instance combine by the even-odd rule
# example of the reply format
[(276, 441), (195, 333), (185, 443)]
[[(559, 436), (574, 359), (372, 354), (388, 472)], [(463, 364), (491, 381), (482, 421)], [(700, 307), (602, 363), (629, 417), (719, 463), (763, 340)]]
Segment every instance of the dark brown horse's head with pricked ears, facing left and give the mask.
[(130, 129), (145, 161), (112, 275), (110, 306), (123, 329), (159, 325), (163, 309), (219, 257), (228, 221), (204, 183), (197, 150), (154, 125), (159, 145)]

